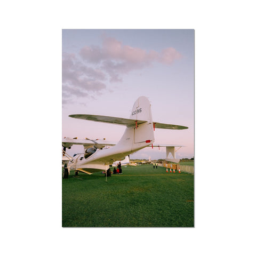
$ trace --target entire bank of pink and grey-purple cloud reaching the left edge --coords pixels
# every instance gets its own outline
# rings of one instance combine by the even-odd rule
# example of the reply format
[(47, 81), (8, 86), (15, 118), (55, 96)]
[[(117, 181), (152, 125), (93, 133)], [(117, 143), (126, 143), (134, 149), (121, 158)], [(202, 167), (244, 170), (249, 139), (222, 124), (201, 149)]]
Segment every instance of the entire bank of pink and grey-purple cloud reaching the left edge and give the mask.
[(115, 38), (103, 37), (102, 46), (84, 46), (79, 54), (62, 54), (63, 104), (70, 97), (92, 97), (102, 93), (106, 83), (122, 82), (122, 76), (133, 70), (153, 65), (154, 62), (172, 65), (181, 54), (173, 47), (161, 52), (146, 51), (139, 47), (123, 45)]

